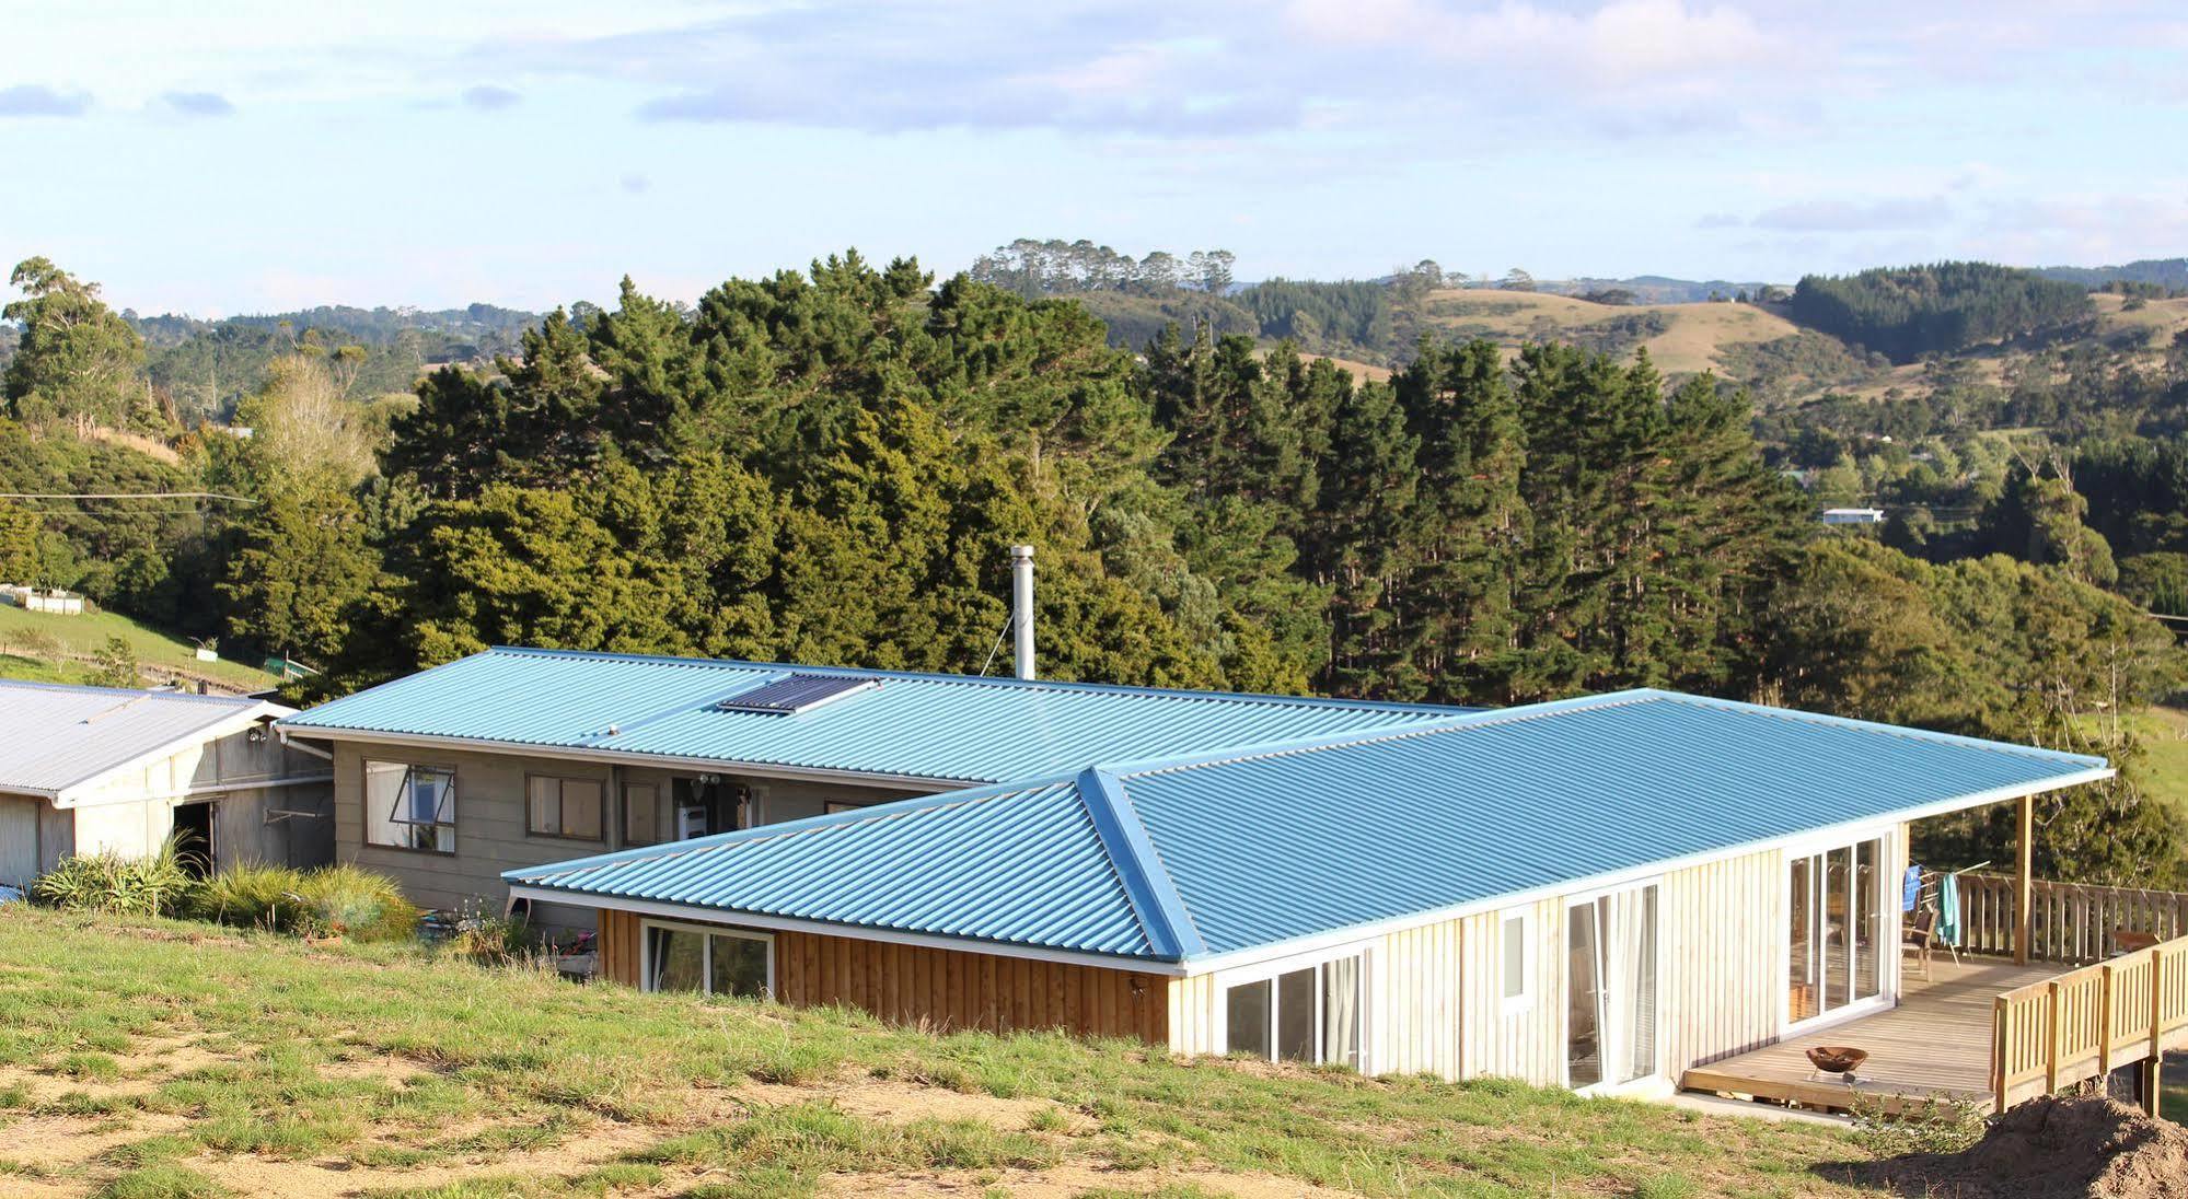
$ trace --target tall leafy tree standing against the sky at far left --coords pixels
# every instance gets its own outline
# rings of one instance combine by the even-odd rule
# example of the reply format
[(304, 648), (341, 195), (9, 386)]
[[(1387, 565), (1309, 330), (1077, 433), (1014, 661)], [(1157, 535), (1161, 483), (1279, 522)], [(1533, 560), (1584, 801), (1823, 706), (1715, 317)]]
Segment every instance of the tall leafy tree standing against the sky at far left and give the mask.
[(26, 258), (9, 273), (24, 293), (0, 309), (22, 324), (22, 344), (0, 374), (9, 414), (28, 424), (164, 431), (144, 385), (144, 341), (98, 300), (98, 284)]

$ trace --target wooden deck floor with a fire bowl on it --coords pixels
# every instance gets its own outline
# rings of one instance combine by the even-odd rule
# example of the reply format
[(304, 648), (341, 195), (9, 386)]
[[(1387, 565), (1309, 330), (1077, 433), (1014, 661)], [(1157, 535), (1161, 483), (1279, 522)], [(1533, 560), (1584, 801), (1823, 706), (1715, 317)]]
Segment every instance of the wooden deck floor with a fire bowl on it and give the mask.
[[(1847, 1094), (1879, 1098), (1886, 1109), (1954, 1096), (1989, 1105), (1993, 1011), (2000, 993), (2057, 978), (2057, 965), (2013, 965), (2000, 958), (1950, 956), (1930, 963), (1930, 978), (1906, 978), (1899, 1006), (1834, 1024), (1820, 1033), (1788, 1037), (1774, 1046), (1742, 1052), (1687, 1070), (1680, 1085), (1691, 1092), (1724, 1092), (1753, 1098), (1844, 1109)], [(1869, 1061), (1853, 1085), (1818, 1074), (1807, 1061), (1812, 1046), (1855, 1046)]]

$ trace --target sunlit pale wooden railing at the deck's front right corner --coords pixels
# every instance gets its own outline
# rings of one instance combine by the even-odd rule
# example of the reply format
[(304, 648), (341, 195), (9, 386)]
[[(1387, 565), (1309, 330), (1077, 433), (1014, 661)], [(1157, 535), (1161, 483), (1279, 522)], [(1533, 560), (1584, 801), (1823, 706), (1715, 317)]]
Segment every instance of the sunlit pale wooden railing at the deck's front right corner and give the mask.
[(1991, 1094), (1998, 1111), (2188, 1044), (2188, 936), (1998, 996)]

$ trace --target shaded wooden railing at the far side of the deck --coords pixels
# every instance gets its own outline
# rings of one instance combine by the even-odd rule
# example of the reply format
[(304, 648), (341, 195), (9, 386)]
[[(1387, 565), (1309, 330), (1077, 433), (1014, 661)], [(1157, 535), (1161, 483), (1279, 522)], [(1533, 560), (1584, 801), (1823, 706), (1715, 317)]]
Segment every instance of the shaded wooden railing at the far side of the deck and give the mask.
[[(2094, 963), (2118, 952), (2114, 932), (2188, 936), (2188, 893), (2044, 882), (2028, 886), (2028, 961)], [(2013, 954), (2013, 875), (1960, 875), (1960, 950)]]

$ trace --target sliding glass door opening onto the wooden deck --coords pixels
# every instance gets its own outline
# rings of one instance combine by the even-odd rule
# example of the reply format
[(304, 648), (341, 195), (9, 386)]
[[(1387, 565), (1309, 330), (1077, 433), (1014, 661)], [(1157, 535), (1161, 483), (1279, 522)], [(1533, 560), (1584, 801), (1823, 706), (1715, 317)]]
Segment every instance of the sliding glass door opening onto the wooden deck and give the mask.
[(1884, 838), (1788, 862), (1785, 1022), (1884, 996)]

